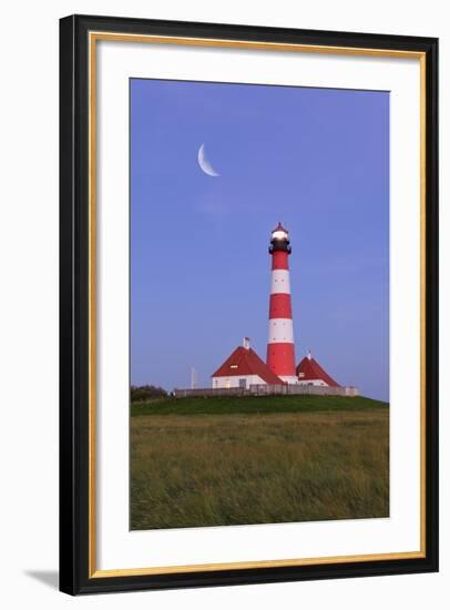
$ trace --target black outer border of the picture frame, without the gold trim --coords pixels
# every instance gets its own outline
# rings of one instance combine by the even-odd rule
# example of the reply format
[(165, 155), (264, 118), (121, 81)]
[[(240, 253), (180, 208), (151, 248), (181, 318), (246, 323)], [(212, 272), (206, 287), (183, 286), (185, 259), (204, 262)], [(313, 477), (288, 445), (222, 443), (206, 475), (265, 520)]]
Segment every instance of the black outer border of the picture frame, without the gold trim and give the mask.
[[(426, 55), (426, 557), (89, 576), (89, 32), (248, 40)], [(438, 39), (70, 16), (60, 20), (60, 590), (70, 594), (438, 571)]]

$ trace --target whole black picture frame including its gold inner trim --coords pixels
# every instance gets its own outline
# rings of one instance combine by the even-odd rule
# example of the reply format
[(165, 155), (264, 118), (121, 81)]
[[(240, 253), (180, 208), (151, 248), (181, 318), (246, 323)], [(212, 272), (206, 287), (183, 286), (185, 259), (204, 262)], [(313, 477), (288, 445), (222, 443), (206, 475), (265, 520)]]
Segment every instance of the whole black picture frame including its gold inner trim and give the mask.
[[(99, 101), (99, 47), (103, 42), (157, 48), (237, 49), (242, 53), (382, 58), (396, 64), (417, 62), (420, 134), (417, 134), (420, 253), (410, 273), (420, 283), (420, 379), (417, 400), (417, 462), (420, 546), (389, 552), (325, 553), (316, 557), (180, 565), (123, 563), (99, 567), (98, 456), (106, 433), (96, 418), (100, 385), (96, 295), (96, 246), (102, 234), (98, 213), (99, 133), (105, 129)], [(124, 48), (124, 47), (123, 47)], [(121, 49), (116, 51), (122, 53)], [(115, 57), (117, 61), (119, 55)], [(119, 65), (119, 63), (117, 63)], [(149, 64), (151, 65), (151, 64)], [(153, 64), (152, 64), (153, 65)], [(264, 72), (264, 62), (262, 70)], [(119, 69), (119, 68), (117, 68)], [(336, 65), (336, 70), (339, 70)], [(351, 72), (352, 65), (347, 70)], [(106, 68), (102, 65), (102, 70)], [(126, 71), (126, 69), (125, 69)], [(130, 74), (130, 75), (134, 75)], [(186, 78), (188, 78), (186, 75)], [(369, 79), (369, 77), (368, 77)], [(369, 80), (367, 80), (369, 82)], [(377, 85), (374, 84), (374, 89)], [(127, 92), (126, 92), (127, 95)], [(127, 98), (126, 98), (127, 99)], [(117, 128), (119, 129), (119, 128)], [(126, 148), (125, 134), (125, 148)], [(127, 151), (126, 151), (127, 154)], [(400, 151), (401, 154), (401, 151)], [(127, 167), (126, 167), (127, 171)], [(103, 179), (102, 179), (103, 180)], [(420, 200), (420, 201), (419, 201)], [(123, 202), (126, 207), (129, 202)], [(409, 231), (406, 223), (405, 232)], [(417, 264), (416, 264), (417, 263)], [(125, 265), (126, 266), (126, 265)], [(102, 297), (103, 298), (103, 297)], [(110, 303), (114, 308), (114, 304)], [(419, 311), (419, 309), (418, 309)], [(101, 316), (100, 316), (101, 317)], [(420, 327), (419, 327), (420, 326)], [(405, 346), (408, 349), (408, 346)], [(401, 356), (401, 354), (397, 354)], [(416, 387), (416, 386), (415, 386)], [(393, 407), (392, 407), (393, 408)], [(391, 448), (396, 451), (396, 447)], [(127, 459), (126, 454), (122, 459)], [(172, 536), (176, 557), (176, 530)], [(262, 535), (263, 536), (263, 535)], [(264, 536), (263, 536), (264, 538)], [(264, 539), (262, 540), (264, 543)], [(70, 594), (300, 581), (438, 570), (438, 40), (369, 33), (346, 33), (248, 26), (71, 16), (60, 21), (60, 589)]]

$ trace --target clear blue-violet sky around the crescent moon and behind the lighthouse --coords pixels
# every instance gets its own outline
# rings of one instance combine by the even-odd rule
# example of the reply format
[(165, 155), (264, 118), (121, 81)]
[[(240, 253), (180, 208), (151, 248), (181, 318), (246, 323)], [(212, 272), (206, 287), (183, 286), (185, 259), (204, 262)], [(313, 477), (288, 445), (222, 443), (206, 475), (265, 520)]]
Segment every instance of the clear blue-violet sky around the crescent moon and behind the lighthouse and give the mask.
[(265, 359), (278, 221), (297, 363), (388, 400), (389, 93), (132, 79), (132, 384), (209, 387), (243, 336)]

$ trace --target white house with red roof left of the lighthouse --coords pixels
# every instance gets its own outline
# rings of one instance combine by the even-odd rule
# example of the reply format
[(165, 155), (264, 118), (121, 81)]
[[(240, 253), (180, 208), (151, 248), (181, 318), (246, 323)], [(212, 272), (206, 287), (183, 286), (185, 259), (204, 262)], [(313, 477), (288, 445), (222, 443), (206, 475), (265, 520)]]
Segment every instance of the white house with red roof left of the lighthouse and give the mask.
[(284, 384), (249, 346), (248, 337), (212, 375), (213, 388), (249, 388), (255, 384)]

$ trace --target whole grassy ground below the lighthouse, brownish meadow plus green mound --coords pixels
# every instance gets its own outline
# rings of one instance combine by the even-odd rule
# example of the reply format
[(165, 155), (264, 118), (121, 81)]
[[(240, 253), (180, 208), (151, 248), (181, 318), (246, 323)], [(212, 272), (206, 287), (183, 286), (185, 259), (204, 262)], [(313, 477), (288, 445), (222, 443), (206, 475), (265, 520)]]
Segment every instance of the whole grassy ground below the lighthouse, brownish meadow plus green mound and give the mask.
[(387, 517), (387, 407), (321, 396), (133, 406), (131, 529)]

